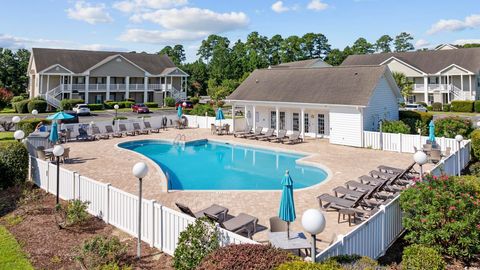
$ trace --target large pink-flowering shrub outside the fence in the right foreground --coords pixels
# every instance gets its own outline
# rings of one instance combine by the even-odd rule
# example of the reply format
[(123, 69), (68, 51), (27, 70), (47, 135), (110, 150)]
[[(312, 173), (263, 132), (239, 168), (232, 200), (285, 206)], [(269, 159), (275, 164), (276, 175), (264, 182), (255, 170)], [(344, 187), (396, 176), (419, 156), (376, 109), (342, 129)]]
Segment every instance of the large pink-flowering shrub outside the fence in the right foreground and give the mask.
[(471, 177), (427, 176), (400, 195), (405, 240), (471, 259), (480, 252), (479, 198), (480, 184)]

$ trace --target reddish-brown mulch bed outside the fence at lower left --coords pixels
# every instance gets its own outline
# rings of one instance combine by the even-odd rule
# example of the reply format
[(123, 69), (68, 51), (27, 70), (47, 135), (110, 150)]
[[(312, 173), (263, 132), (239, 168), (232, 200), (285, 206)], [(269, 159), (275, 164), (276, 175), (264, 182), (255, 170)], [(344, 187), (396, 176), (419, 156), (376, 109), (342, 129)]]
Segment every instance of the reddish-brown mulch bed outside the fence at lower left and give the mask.
[[(36, 269), (81, 269), (76, 249), (94, 236), (115, 235), (127, 244), (122, 264), (133, 269), (173, 269), (172, 258), (148, 244), (142, 245), (142, 259), (136, 259), (136, 239), (102, 220), (92, 217), (81, 227), (60, 229), (55, 220), (55, 197), (37, 190), (36, 196), (21, 197), (21, 189), (0, 190), (0, 224), (15, 236)], [(33, 197), (33, 198), (32, 198)]]

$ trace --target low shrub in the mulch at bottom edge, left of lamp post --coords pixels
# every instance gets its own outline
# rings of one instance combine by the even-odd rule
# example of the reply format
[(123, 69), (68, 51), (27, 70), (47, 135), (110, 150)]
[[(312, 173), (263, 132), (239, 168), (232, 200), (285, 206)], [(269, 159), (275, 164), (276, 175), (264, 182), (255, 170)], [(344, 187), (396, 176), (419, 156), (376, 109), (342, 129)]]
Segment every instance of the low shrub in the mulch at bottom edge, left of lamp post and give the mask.
[(86, 240), (78, 251), (77, 259), (87, 269), (98, 269), (118, 262), (126, 255), (127, 247), (118, 237), (95, 236)]

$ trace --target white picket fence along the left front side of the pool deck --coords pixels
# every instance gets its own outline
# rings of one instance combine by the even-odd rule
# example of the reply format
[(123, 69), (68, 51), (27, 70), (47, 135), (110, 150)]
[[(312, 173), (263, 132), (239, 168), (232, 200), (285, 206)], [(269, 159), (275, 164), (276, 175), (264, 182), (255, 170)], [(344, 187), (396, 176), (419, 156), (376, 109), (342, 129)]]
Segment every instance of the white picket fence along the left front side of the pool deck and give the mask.
[[(56, 195), (57, 166), (35, 157), (30, 157), (30, 165), (32, 180), (35, 184)], [(137, 196), (62, 167), (60, 167), (59, 181), (60, 198), (88, 201), (90, 214), (132, 236), (137, 236)], [(169, 255), (173, 255), (180, 233), (194, 221), (194, 218), (156, 201), (142, 199), (142, 240)], [(257, 243), (222, 228), (218, 230), (222, 246)]]

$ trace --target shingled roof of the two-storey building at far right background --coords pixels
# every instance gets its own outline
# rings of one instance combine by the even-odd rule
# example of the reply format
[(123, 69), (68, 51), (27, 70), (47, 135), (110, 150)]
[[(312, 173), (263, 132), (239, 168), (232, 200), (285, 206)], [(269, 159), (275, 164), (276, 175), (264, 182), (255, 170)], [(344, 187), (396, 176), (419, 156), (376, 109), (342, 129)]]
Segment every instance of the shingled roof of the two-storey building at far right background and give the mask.
[(435, 74), (452, 64), (474, 73), (480, 71), (480, 48), (350, 55), (342, 66), (379, 65), (391, 57), (428, 74)]

